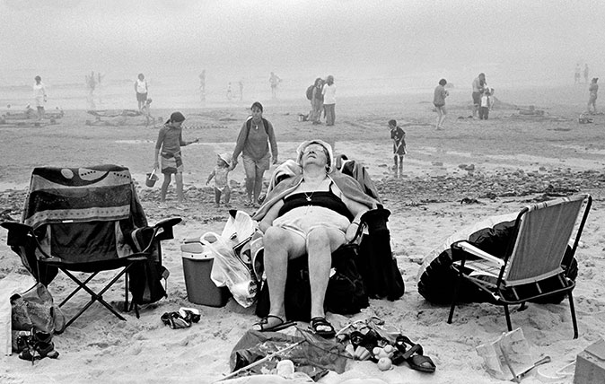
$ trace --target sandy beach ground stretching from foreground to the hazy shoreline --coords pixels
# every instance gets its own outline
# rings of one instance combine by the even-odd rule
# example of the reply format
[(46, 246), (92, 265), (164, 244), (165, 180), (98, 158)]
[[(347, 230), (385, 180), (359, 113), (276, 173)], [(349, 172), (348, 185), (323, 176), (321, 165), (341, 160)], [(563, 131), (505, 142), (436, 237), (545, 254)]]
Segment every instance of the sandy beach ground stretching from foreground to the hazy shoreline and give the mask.
[[(347, 322), (378, 316), (424, 346), (437, 371), (426, 375), (407, 365), (379, 371), (372, 362), (349, 362), (343, 375), (330, 373), (320, 380), (339, 383), (355, 377), (381, 379), (388, 383), (497, 383), (489, 376), (476, 352), (480, 344), (495, 340), (505, 330), (504, 312), (487, 304), (470, 304), (456, 311), (452, 325), (448, 309), (425, 301), (416, 289), (416, 273), (425, 255), (461, 226), (482, 218), (517, 212), (551, 190), (591, 193), (595, 199), (576, 257), (579, 276), (574, 291), (580, 337), (573, 331), (567, 301), (560, 305), (530, 304), (513, 310), (513, 327), (522, 327), (536, 360), (550, 356), (552, 362), (539, 371), (554, 374), (577, 353), (605, 336), (605, 219), (602, 196), (605, 185), (605, 117), (594, 116), (592, 124), (577, 118), (587, 93), (583, 87), (557, 89), (499, 90), (496, 96), (516, 106), (535, 105), (544, 116), (522, 115), (517, 109), (495, 109), (487, 121), (469, 117), (470, 92), (452, 90), (447, 100), (445, 129), (435, 131), (431, 92), (403, 96), (338, 98), (335, 127), (299, 122), (299, 113), (309, 109), (306, 100), (276, 100), (265, 103), (264, 117), (276, 127), (279, 158), (294, 157), (302, 140), (321, 138), (335, 145), (337, 153), (361, 161), (384, 197), (390, 216), (392, 249), (403, 272), (406, 293), (399, 301), (371, 301), (370, 307), (353, 317), (329, 315), (338, 327)], [(262, 100), (261, 100), (262, 101)], [(42, 127), (2, 127), (0, 150), (0, 211), (18, 219), (32, 167), (41, 165), (85, 166), (117, 163), (127, 166), (138, 184), (139, 196), (150, 223), (178, 215), (183, 223), (175, 239), (163, 244), (164, 265), (171, 271), (169, 296), (141, 319), (127, 313), (120, 321), (100, 305), (93, 305), (66, 332), (55, 336), (59, 359), (44, 359), (31, 366), (16, 355), (0, 358), (0, 381), (29, 382), (196, 382), (218, 380), (229, 372), (232, 346), (257, 320), (253, 308), (234, 301), (224, 308), (195, 305), (187, 301), (180, 244), (205, 231), (221, 231), (224, 207), (213, 207), (212, 189), (205, 186), (217, 153), (230, 152), (248, 114), (250, 102), (233, 107), (184, 109), (188, 117), (185, 140), (200, 138), (183, 150), (187, 209), (160, 209), (159, 188), (145, 188), (145, 173), (153, 166), (157, 129), (140, 125), (141, 118), (128, 118), (123, 127), (86, 126), (91, 119), (83, 110), (66, 110), (57, 124)], [(131, 106), (125, 106), (131, 108)], [(168, 116), (172, 110), (154, 110)], [(386, 123), (396, 118), (407, 133), (408, 156), (402, 179), (390, 173), (390, 136)], [(474, 166), (474, 171), (464, 166)], [(243, 171), (232, 172), (232, 203), (244, 207)], [(468, 197), (478, 204), (460, 204)], [(174, 189), (169, 202), (176, 199)], [(248, 211), (250, 212), (250, 211)], [(0, 231), (0, 278), (24, 273), (20, 260), (6, 246), (6, 231)], [(68, 284), (63, 276), (50, 285), (58, 300)], [(120, 284), (105, 294), (111, 302), (122, 298)], [(76, 298), (75, 303), (85, 298)], [(193, 306), (202, 319), (193, 327), (172, 330), (162, 325), (163, 312)], [(74, 313), (74, 304), (66, 313)], [(302, 325), (306, 327), (306, 325)], [(540, 382), (528, 377), (524, 383)], [(572, 382), (567, 377), (558, 382)]]

